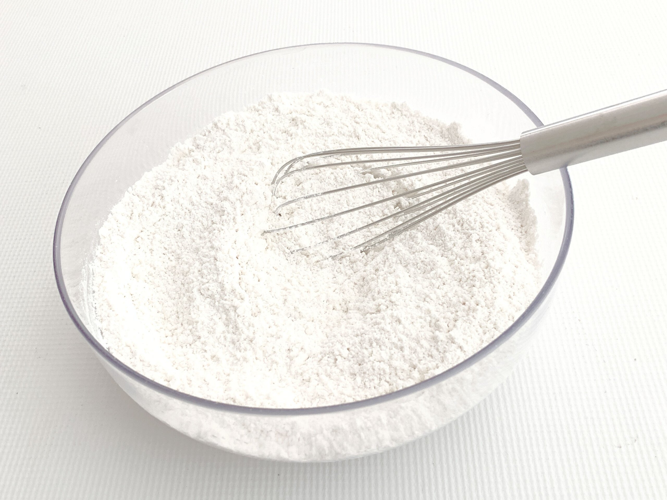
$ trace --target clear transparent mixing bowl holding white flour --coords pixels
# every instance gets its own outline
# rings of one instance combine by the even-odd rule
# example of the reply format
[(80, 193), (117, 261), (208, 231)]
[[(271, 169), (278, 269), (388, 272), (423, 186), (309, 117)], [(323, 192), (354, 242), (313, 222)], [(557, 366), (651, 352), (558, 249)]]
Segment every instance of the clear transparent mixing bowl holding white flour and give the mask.
[(87, 303), (87, 265), (111, 207), (177, 142), (225, 111), (273, 92), (328, 89), (407, 102), (445, 122), (458, 121), (474, 142), (516, 139), (542, 125), (506, 89), (470, 68), (410, 49), (357, 43), (267, 51), (202, 71), (153, 97), (95, 147), (74, 177), (53, 241), (63, 303), (111, 377), (146, 411), (204, 443), (260, 457), (329, 461), (396, 447), (456, 419), (493, 391), (538, 330), (572, 233), (572, 188), (565, 169), (532, 177), (544, 284), (500, 337), (459, 365), (400, 391), (344, 405), (261, 409), (208, 401), (156, 383), (99, 343)]

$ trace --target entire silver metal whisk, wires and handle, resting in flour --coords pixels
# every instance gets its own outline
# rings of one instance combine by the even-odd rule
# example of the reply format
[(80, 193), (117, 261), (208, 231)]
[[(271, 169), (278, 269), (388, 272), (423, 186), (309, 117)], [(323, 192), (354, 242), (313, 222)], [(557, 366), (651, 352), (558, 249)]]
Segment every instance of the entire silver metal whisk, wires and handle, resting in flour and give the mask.
[[(352, 247), (352, 249), (366, 251), (412, 229), (456, 203), (516, 175), (526, 172), (538, 175), (665, 140), (667, 140), (667, 90), (551, 125), (544, 125), (522, 133), (519, 139), (513, 141), (441, 147), (354, 147), (310, 153), (293, 158), (278, 169), (273, 178), (274, 195), (283, 179), (299, 172), (316, 173), (321, 169), (358, 165), (364, 167), (364, 172), (368, 173), (386, 172), (391, 169), (399, 169), (400, 173), (380, 178), (372, 177), (372, 180), (362, 183), (344, 185), (289, 199), (277, 207), (277, 213), (287, 205), (311, 198), (390, 181), (400, 181), (419, 175), (452, 169), (467, 169), (475, 165), (478, 167), (464, 170), (463, 173), (457, 171), (456, 175), (450, 175), (392, 196), (374, 199), (363, 205), (284, 227), (268, 229), (265, 233), (293, 230), (400, 199), (416, 201), (412, 204), (408, 203), (406, 207), (399, 206), (394, 213), (371, 220), (360, 227), (344, 231), (320, 242), (343, 239), (381, 224), (393, 224), (390, 229)], [(352, 159), (348, 159), (349, 157)], [(322, 160), (325, 163), (317, 163)], [(426, 169), (405, 172), (406, 169), (414, 169), (418, 165), (431, 164), (433, 166)], [(424, 197), (426, 198), (422, 199)], [(308, 247), (311, 246), (313, 245)], [(296, 251), (303, 249), (296, 249)]]

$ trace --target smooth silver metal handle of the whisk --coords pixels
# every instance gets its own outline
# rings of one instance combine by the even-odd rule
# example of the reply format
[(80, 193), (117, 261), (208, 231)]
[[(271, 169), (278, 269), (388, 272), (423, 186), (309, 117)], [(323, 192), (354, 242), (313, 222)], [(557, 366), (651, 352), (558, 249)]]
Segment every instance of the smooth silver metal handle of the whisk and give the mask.
[(534, 175), (667, 141), (667, 90), (522, 133)]

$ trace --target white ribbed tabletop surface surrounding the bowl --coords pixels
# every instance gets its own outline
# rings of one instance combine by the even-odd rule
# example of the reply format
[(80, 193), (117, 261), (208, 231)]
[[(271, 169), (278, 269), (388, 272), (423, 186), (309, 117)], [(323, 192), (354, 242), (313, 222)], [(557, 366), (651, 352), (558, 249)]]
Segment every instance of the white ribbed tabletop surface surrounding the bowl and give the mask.
[(545, 122), (667, 87), (660, 1), (285, 4), (0, 6), (0, 497), (667, 497), (667, 145), (572, 169), (574, 239), (544, 332), (496, 393), (416, 443), (245, 459), (171, 431), (103, 371), (55, 289), (55, 217), (95, 144), (184, 77), (369, 41), (473, 67)]

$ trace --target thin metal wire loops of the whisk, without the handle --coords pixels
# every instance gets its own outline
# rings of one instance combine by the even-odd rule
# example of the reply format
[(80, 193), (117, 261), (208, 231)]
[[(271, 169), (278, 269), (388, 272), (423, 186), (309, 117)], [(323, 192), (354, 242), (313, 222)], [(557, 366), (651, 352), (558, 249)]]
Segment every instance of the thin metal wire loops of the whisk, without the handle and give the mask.
[[(394, 155), (395, 153), (402, 153), (404, 155), (407, 154), (408, 156), (377, 157), (377, 155)], [(422, 153), (434, 154), (424, 155)], [(371, 156), (369, 157), (369, 155)], [(364, 157), (359, 158), (360, 156)], [(314, 165), (310, 164), (312, 161), (331, 157), (343, 157), (344, 159), (341, 161), (329, 160), (326, 163), (316, 163)], [(355, 158), (347, 159), (349, 157)], [(333, 195), (335, 193), (342, 193), (343, 191), (348, 191), (351, 189), (361, 189), (363, 187), (372, 185), (388, 183), (391, 181), (400, 181), (410, 177), (444, 172), (452, 169), (462, 169), (465, 167), (472, 167), (474, 165), (482, 166), (478, 167), (477, 169), (472, 169), (464, 171), (463, 173), (456, 173), (455, 175), (444, 177), (444, 179), (440, 179), (424, 186), (407, 189), (406, 191), (402, 191), (389, 197), (376, 199), (356, 207), (344, 209), (337, 211), (336, 213), (327, 214), (321, 217), (315, 217), (307, 221), (294, 223), (284, 227), (267, 229), (264, 232), (277, 233), (280, 231), (289, 231), (298, 227), (327, 221), (335, 217), (342, 217), (356, 211), (369, 209), (371, 207), (381, 205), (382, 203), (389, 203), (391, 201), (398, 201), (400, 199), (405, 199), (409, 202), (410, 200), (414, 199), (415, 202), (408, 205), (408, 207), (401, 208), (400, 206), (397, 206), (397, 210), (394, 213), (390, 213), (389, 215), (385, 215), (384, 217), (370, 221), (369, 223), (361, 225), (360, 227), (356, 227), (340, 235), (336, 235), (334, 237), (320, 241), (319, 243), (315, 243), (315, 245), (308, 245), (306, 247), (293, 250), (293, 252), (305, 251), (327, 242), (350, 237), (355, 233), (360, 233), (361, 231), (381, 225), (382, 223), (386, 223), (392, 219), (397, 219), (396, 225), (390, 227), (390, 229), (387, 229), (378, 235), (374, 235), (362, 241), (362, 243), (358, 243), (357, 245), (354, 245), (350, 248), (352, 250), (358, 249), (366, 251), (371, 247), (380, 245), (386, 241), (389, 241), (390, 239), (393, 239), (401, 233), (412, 229), (412, 227), (415, 227), (427, 219), (434, 217), (434, 215), (437, 215), (438, 213), (452, 207), (453, 205), (456, 205), (456, 203), (460, 203), (460, 201), (463, 201), (464, 199), (467, 199), (476, 193), (483, 191), (484, 189), (488, 189), (488, 187), (491, 187), (496, 183), (506, 181), (527, 171), (526, 165), (522, 159), (519, 141), (502, 141), (487, 144), (466, 144), (442, 147), (358, 147), (348, 149), (333, 149), (329, 151), (321, 151), (319, 153), (309, 153), (307, 155), (302, 155), (285, 163), (282, 167), (280, 167), (280, 169), (278, 169), (275, 177), (273, 177), (273, 192), (275, 195), (275, 191), (277, 190), (279, 183), (281, 183), (285, 177), (304, 171), (312, 172), (318, 169), (354, 167), (357, 165), (363, 167), (364, 165), (368, 164), (374, 166), (368, 169), (363, 169), (362, 172), (373, 173), (400, 167), (412, 167), (414, 165), (426, 165), (429, 163), (442, 162), (448, 163), (446, 163), (446, 165), (438, 165), (437, 167), (430, 169), (388, 175), (386, 177), (372, 179), (363, 183), (346, 185), (336, 189), (310, 193), (301, 197), (289, 199), (279, 204), (275, 209), (275, 212), (280, 213), (280, 211), (288, 205), (315, 197)], [(307, 164), (305, 166), (299, 167), (301, 163)], [(384, 165), (377, 165), (378, 163), (384, 163)], [(422, 199), (426, 195), (432, 196), (426, 199)], [(406, 220), (400, 220), (405, 219), (406, 217), (408, 217)]]

